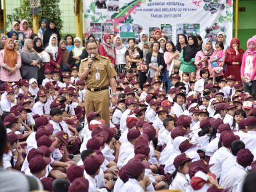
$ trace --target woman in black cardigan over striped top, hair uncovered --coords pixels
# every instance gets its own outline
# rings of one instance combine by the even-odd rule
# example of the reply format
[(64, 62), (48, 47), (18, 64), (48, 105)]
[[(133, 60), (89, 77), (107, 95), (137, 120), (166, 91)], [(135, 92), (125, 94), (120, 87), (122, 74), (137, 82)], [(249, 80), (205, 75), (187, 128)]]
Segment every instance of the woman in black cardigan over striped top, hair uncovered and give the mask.
[(163, 54), (159, 52), (160, 43), (155, 41), (152, 44), (152, 52), (147, 53), (146, 63), (149, 66), (147, 70), (147, 81), (150, 83), (154, 77), (159, 77), (161, 80), (163, 78), (163, 73), (166, 69), (166, 64), (163, 59)]

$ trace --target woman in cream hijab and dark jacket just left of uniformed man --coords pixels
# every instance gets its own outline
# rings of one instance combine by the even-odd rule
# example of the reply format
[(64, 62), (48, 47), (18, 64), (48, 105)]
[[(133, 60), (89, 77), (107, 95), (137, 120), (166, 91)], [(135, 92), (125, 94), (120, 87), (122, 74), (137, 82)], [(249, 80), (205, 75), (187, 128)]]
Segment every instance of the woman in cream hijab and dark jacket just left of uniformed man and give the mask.
[(88, 53), (85, 47), (82, 46), (82, 39), (80, 37), (74, 39), (74, 44), (74, 49), (69, 53), (69, 64), (71, 68), (77, 66), (79, 69), (81, 60), (87, 58)]

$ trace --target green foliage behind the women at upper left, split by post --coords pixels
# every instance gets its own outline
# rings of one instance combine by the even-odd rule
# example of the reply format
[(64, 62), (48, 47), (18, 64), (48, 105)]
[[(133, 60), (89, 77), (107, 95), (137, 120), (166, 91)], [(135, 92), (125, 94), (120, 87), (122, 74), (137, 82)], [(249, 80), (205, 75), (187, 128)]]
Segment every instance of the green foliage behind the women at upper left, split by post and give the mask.
[[(30, 24), (30, 29), (33, 29), (33, 15), (30, 14), (29, 0), (20, 0), (21, 6), (14, 9), (12, 14), (6, 15), (6, 25), (11, 27), (11, 23), (15, 20), (21, 21), (27, 19)], [(61, 32), (63, 23), (61, 19), (61, 10), (59, 9), (60, 0), (41, 0), (39, 6), (39, 21), (46, 19), (47, 21), (55, 21), (57, 29)], [(39, 23), (38, 23), (39, 25)]]

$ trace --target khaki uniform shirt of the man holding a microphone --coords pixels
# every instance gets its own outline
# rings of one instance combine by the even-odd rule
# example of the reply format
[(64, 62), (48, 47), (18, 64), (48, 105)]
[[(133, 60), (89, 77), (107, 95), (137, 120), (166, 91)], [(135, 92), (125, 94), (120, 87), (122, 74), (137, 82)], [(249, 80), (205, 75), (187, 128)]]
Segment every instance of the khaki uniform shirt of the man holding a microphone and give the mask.
[[(85, 58), (81, 61), (78, 75), (83, 73), (83, 71), (88, 68), (88, 58)], [(96, 79), (96, 74), (99, 73), (99, 79)], [(91, 65), (91, 71), (86, 80), (86, 87), (88, 88), (102, 88), (109, 86), (109, 79), (115, 77), (117, 72), (115, 71), (114, 66), (112, 65), (108, 57), (101, 56), (99, 54), (93, 59)], [(98, 76), (97, 76), (98, 77)]]

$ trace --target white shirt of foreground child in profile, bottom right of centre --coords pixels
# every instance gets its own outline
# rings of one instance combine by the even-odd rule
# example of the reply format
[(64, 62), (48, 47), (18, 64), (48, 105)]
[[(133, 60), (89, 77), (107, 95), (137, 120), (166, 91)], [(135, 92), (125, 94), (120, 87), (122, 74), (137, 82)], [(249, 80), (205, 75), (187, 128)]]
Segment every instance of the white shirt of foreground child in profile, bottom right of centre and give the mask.
[(189, 181), (187, 180), (186, 175), (179, 173), (178, 171), (173, 182), (171, 182), (171, 185), (169, 186), (169, 190), (179, 189), (182, 192), (186, 192), (189, 186)]

